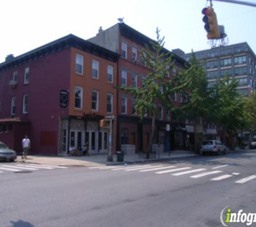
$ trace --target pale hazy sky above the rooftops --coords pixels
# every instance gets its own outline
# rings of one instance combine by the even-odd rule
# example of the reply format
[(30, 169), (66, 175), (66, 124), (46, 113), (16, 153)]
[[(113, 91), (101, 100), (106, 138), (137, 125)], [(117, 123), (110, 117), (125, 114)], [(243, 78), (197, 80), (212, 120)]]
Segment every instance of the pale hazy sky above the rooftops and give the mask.
[[(256, 4), (256, 0), (249, 0)], [(229, 44), (247, 42), (256, 53), (256, 8), (212, 1), (218, 24), (225, 26)], [(118, 23), (117, 18), (156, 39), (156, 27), (165, 37), (164, 47), (209, 49), (202, 9), (206, 0), (0, 0), (0, 62), (74, 34), (88, 39)]]

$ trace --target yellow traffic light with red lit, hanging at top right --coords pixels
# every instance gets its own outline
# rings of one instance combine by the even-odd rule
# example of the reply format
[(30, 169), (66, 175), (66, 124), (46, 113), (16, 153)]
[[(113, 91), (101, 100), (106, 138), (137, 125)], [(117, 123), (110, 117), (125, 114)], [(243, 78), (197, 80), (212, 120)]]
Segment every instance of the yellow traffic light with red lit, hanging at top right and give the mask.
[(203, 22), (205, 23), (204, 29), (207, 31), (207, 39), (219, 39), (219, 26), (217, 16), (211, 6), (202, 10), (204, 15)]

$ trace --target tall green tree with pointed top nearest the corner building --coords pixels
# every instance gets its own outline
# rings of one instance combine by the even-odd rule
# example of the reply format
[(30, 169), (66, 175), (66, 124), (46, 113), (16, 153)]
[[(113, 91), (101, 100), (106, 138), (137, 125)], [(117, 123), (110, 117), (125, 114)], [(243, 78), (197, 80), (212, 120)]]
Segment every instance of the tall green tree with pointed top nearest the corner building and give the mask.
[(146, 114), (151, 118), (147, 158), (149, 158), (149, 153), (152, 151), (155, 138), (155, 121), (159, 113), (157, 105), (162, 105), (165, 110), (170, 109), (172, 107), (170, 97), (175, 91), (182, 88), (182, 86), (177, 86), (175, 79), (169, 77), (170, 70), (174, 65), (173, 57), (170, 52), (164, 49), (164, 37), (160, 38), (158, 28), (156, 29), (156, 38), (156, 41), (150, 42), (150, 45), (146, 45), (146, 48), (142, 50), (141, 58), (149, 68), (149, 73), (143, 80), (143, 86), (137, 88), (117, 87), (135, 98), (136, 113), (141, 120)]

